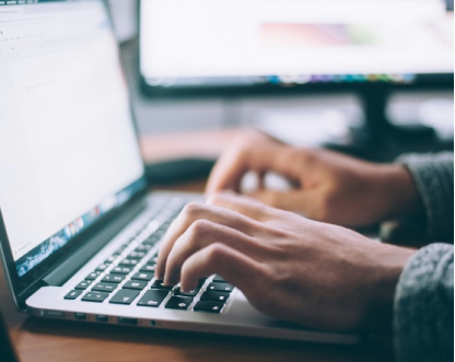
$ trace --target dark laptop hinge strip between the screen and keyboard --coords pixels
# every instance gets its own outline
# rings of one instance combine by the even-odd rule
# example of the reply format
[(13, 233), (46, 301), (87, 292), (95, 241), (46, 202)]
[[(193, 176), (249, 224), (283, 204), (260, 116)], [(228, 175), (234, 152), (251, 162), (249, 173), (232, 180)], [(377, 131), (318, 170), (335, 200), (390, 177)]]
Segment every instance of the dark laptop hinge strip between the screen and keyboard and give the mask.
[(74, 276), (97, 252), (118, 235), (147, 207), (142, 199), (93, 235), (86, 244), (42, 279), (44, 285), (61, 287)]

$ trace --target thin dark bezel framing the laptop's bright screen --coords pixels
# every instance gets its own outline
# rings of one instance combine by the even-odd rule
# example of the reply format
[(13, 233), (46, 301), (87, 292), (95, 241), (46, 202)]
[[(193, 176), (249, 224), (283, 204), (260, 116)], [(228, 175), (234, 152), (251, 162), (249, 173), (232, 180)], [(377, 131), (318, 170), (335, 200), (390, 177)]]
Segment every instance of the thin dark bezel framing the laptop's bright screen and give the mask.
[[(107, 2), (105, 0), (97, 0), (97, 1), (103, 3), (104, 11), (106, 12), (106, 15), (109, 20), (109, 31), (113, 33), (113, 37), (115, 37), (114, 27), (113, 27), (112, 19), (110, 19), (110, 12), (108, 10)], [(61, 2), (65, 2), (65, 0), (62, 0)], [(71, 3), (74, 5), (73, 1), (71, 1)], [(39, 3), (32, 3), (32, 4), (38, 5)], [(121, 54), (120, 54), (119, 48), (118, 48), (118, 61), (122, 65), (122, 59), (121, 59)], [(128, 79), (126, 75), (125, 67), (121, 67), (121, 71), (122, 71), (122, 75), (125, 77), (125, 79)], [(129, 92), (131, 121), (133, 124), (136, 137), (137, 137), (138, 144), (139, 144), (139, 129), (137, 126), (135, 113), (132, 110), (132, 106), (131, 106), (132, 103), (130, 100), (130, 94), (131, 93)], [(11, 246), (10, 246), (10, 242), (8, 237), (7, 226), (4, 223), (4, 219), (3, 219), (3, 214), (2, 214), (2, 210), (0, 206), (0, 252), (1, 252), (0, 256), (1, 256), (1, 261), (3, 264), (3, 269), (5, 271), (8, 284), (11, 289), (11, 293), (14, 297), (14, 302), (16, 303), (16, 306), (20, 310), (25, 311), (25, 301), (33, 293), (35, 293), (39, 288), (43, 287), (43, 283), (42, 283), (43, 278), (45, 278), (49, 272), (51, 272), (62, 261), (65, 261), (69, 256), (71, 256), (72, 253), (83, 247), (90, 241), (91, 235), (95, 235), (96, 233), (98, 233), (107, 224), (115, 221), (122, 212), (125, 212), (131, 206), (136, 205), (138, 200), (147, 196), (148, 184), (147, 184), (147, 177), (145, 177), (145, 165), (143, 163), (143, 160), (142, 160), (142, 166), (143, 166), (142, 176), (131, 184), (133, 185), (136, 183), (141, 183), (144, 185), (142, 189), (140, 189), (133, 197), (131, 197), (130, 200), (128, 200), (124, 205), (110, 210), (109, 212), (101, 217), (96, 222), (93, 223), (93, 225), (82, 231), (79, 235), (77, 235), (73, 240), (71, 240), (61, 249), (57, 250), (55, 254), (47, 257), (45, 260), (43, 260), (39, 265), (37, 265), (35, 268), (33, 268), (30, 272), (27, 272), (23, 277), (19, 276), (18, 269), (16, 269), (16, 262), (13, 258), (13, 253), (11, 250)]]

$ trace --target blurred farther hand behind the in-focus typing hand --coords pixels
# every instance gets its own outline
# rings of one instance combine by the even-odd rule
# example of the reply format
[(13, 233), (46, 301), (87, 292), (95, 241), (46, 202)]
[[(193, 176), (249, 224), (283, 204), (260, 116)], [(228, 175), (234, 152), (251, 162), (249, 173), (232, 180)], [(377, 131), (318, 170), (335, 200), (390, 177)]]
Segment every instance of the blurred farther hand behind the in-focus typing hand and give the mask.
[(291, 148), (256, 131), (247, 132), (222, 155), (207, 194), (240, 192), (248, 172), (261, 179), (269, 172), (278, 173), (296, 186), (287, 192), (261, 187), (249, 197), (320, 222), (370, 226), (423, 209), (412, 176), (401, 165), (377, 165), (331, 151)]

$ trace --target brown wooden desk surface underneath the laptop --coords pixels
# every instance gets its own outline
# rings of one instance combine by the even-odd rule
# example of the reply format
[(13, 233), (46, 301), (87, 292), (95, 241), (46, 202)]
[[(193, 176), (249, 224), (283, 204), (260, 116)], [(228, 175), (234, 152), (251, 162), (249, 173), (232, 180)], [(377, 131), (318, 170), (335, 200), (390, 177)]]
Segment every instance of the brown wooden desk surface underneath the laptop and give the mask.
[[(221, 142), (224, 145), (229, 143), (232, 137), (235, 137), (235, 132), (222, 136), (222, 141), (215, 137), (209, 139), (219, 148)], [(207, 140), (207, 135), (202, 138)], [(176, 139), (174, 141), (179, 142)], [(147, 143), (144, 148), (152, 150)], [(217, 147), (206, 144), (200, 152), (203, 154), (208, 150), (213, 154), (220, 151)], [(205, 183), (196, 183), (173, 189), (202, 191), (203, 186)], [(362, 347), (347, 348), (31, 318), (14, 308), (1, 268), (0, 303), (23, 362), (394, 361), (392, 342), (387, 338), (377, 338)]]

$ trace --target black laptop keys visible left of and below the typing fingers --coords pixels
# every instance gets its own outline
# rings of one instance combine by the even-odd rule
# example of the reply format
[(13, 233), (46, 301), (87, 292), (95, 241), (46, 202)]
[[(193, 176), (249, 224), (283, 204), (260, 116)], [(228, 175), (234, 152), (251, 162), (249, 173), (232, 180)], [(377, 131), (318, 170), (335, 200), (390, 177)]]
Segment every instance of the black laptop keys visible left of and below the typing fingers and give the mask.
[(189, 292), (183, 292), (178, 285), (164, 285), (155, 278), (158, 254), (152, 249), (184, 206), (179, 199), (172, 200), (65, 300), (221, 314), (234, 291), (222, 277), (201, 279), (198, 288)]

